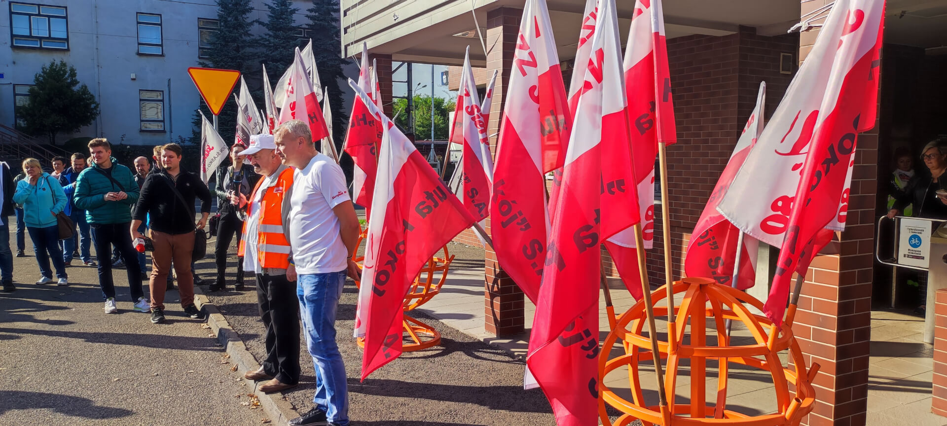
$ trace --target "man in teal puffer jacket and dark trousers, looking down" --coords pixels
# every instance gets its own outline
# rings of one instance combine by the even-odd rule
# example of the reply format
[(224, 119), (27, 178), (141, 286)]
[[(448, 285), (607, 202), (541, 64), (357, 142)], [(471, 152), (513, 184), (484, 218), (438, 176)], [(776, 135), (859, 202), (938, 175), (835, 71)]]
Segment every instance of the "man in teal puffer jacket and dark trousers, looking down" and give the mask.
[[(112, 146), (104, 138), (89, 142), (89, 168), (82, 170), (76, 180), (76, 206), (85, 210), (86, 220), (92, 227), (96, 254), (106, 256), (114, 244), (125, 258), (125, 272), (132, 291), (133, 311), (149, 312), (151, 304), (141, 288), (141, 265), (132, 246), (128, 229), (132, 222), (132, 206), (138, 201), (138, 184), (132, 170), (116, 163)], [(98, 286), (105, 299), (105, 313), (115, 313), (116, 289), (112, 282), (112, 262), (108, 257), (98, 259)]]

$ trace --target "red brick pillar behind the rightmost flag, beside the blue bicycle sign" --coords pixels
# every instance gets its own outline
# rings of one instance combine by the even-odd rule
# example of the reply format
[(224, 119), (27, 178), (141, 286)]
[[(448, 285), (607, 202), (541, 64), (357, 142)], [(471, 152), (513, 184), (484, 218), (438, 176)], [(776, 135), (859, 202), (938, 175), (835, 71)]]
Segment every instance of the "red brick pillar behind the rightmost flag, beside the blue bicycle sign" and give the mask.
[[(801, 13), (825, 3), (803, 1)], [(800, 35), (800, 61), (817, 34)], [(866, 423), (878, 126), (858, 135), (846, 230), (813, 261), (795, 315), (793, 330), (806, 362), (821, 365), (813, 381), (815, 406), (803, 420), (811, 426)]]

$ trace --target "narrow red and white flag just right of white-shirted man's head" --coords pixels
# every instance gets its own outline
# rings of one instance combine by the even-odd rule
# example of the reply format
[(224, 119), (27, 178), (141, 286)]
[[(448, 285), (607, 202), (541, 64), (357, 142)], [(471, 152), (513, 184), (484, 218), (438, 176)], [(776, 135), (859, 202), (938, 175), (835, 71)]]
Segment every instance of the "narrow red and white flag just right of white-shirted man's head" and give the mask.
[[(362, 91), (371, 93), (371, 71), (368, 68), (368, 50), (362, 44), (362, 69), (358, 75), (358, 85)], [(376, 108), (381, 111), (381, 108)], [(366, 208), (366, 217), (370, 218), (371, 196), (375, 188), (375, 171), (378, 169), (378, 144), (382, 140), (382, 125), (379, 118), (368, 110), (366, 103), (358, 96), (352, 100), (352, 112), (348, 117), (348, 132), (343, 151), (352, 157), (355, 167), (352, 170), (352, 194), (355, 204)]]

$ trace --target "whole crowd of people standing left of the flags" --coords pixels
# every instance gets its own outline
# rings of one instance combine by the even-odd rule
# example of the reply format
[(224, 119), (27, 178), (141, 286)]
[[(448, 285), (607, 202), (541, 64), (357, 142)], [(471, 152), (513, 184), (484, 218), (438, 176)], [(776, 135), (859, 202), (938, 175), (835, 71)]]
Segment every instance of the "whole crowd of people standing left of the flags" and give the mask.
[[(151, 322), (161, 324), (166, 321), (164, 299), (173, 270), (182, 311), (200, 318), (203, 313), (194, 304), (193, 263), (203, 253), (195, 245), (201, 245), (216, 196), (217, 276), (208, 290), (226, 288), (226, 265), (233, 259), (228, 248), (236, 237), (234, 288), (243, 290), (244, 273), (256, 278), (266, 329), (266, 359), (244, 377), (266, 381), (259, 386), (263, 392), (295, 387), (302, 329), (316, 389), (313, 409), (290, 424), (347, 426), (346, 370), (334, 323), (346, 276), (359, 275), (352, 257), (360, 226), (342, 169), (316, 151), (309, 125), (290, 120), (272, 135), (251, 136), (249, 147), (235, 144), (229, 164), (217, 170), (213, 191), (197, 174), (181, 168), (183, 151), (177, 144), (155, 147), (153, 165), (148, 158), (136, 158), (134, 171), (116, 162), (106, 139), (93, 139), (88, 148), (88, 156), (74, 153), (68, 168), (66, 158), (53, 158), (51, 173), (43, 171), (39, 160), (27, 158), (22, 173), (12, 178), (9, 165), (0, 163), (3, 291), (16, 290), (8, 222), (15, 212), (16, 256), (25, 256), (26, 230), (41, 273), (37, 285), (54, 282), (53, 270), (57, 285), (69, 285), (66, 267), (78, 251), (82, 265), (98, 268), (103, 309), (115, 313), (119, 306), (112, 273), (123, 265), (132, 311), (150, 312)], [(63, 223), (73, 229), (61, 240), (68, 234)], [(91, 256), (92, 246), (98, 262)], [(150, 297), (142, 285), (144, 251), (151, 252)]]

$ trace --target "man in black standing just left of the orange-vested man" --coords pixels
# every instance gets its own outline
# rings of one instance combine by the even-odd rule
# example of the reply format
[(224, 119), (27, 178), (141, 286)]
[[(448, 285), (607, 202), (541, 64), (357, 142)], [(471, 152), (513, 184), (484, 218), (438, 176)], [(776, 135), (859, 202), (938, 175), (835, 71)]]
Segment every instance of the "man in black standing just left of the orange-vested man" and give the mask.
[[(243, 221), (237, 215), (237, 210), (240, 208), (234, 205), (234, 202), (240, 200), (240, 194), (249, 197), (250, 191), (259, 181), (259, 174), (253, 171), (253, 166), (243, 163), (241, 152), (245, 149), (246, 147), (241, 142), (235, 143), (233, 147), (230, 147), (231, 164), (217, 169), (217, 185), (214, 186), (214, 192), (217, 193), (217, 211), (221, 215), (221, 221), (217, 224), (217, 247), (214, 249), (217, 281), (210, 285), (211, 292), (226, 288), (224, 273), (227, 269), (227, 249), (230, 248), (234, 235), (237, 236), (237, 245), (240, 245)], [(234, 280), (234, 289), (243, 290), (242, 257), (238, 257), (237, 260), (237, 279)]]

